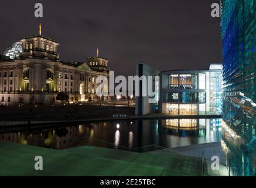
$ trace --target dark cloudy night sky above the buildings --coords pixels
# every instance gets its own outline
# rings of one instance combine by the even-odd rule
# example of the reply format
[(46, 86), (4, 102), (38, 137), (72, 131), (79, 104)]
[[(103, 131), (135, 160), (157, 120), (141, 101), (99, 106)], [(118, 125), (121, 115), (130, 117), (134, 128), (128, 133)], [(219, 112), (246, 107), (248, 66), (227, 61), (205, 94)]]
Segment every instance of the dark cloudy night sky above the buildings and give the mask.
[(99, 55), (116, 75), (134, 75), (135, 63), (159, 70), (207, 69), (221, 63), (218, 0), (1, 0), (0, 53), (25, 35), (38, 34), (34, 5), (44, 5), (42, 35), (60, 43), (65, 61)]

